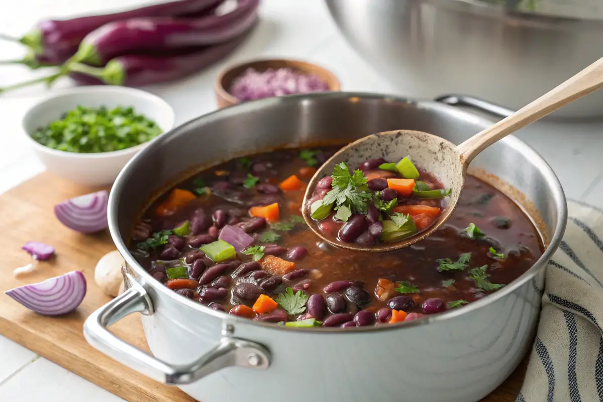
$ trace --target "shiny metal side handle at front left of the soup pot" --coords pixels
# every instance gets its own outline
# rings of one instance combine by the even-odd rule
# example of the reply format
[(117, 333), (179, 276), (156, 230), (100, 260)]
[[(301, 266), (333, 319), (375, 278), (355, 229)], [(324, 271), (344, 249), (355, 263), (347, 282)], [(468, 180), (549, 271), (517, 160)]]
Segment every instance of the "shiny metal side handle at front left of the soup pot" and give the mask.
[[(130, 276), (130, 275), (128, 275)], [(130, 288), (100, 307), (84, 321), (84, 338), (90, 345), (112, 359), (169, 385), (189, 384), (226, 367), (265, 370), (270, 366), (270, 351), (245, 339), (232, 338), (232, 327), (226, 326), (218, 345), (199, 359), (186, 365), (171, 365), (122, 341), (107, 327), (131, 313), (153, 314), (153, 303), (139, 283), (128, 278)]]

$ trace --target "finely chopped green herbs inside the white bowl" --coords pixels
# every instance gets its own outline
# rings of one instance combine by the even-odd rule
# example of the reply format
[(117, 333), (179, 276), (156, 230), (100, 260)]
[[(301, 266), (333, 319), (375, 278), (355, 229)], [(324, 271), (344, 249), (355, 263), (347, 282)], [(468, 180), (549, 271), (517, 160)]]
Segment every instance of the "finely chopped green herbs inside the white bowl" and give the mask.
[(36, 142), (67, 152), (111, 152), (131, 148), (162, 133), (152, 120), (132, 107), (77, 106), (62, 119), (31, 134)]

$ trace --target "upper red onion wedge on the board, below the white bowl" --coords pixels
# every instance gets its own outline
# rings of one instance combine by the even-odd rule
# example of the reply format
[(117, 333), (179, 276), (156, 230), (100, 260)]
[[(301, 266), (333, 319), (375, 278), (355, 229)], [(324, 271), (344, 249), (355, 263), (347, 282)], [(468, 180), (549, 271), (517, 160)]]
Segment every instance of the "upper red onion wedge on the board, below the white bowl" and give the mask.
[(109, 192), (97, 191), (81, 195), (54, 206), (57, 219), (66, 227), (81, 233), (95, 233), (106, 228)]

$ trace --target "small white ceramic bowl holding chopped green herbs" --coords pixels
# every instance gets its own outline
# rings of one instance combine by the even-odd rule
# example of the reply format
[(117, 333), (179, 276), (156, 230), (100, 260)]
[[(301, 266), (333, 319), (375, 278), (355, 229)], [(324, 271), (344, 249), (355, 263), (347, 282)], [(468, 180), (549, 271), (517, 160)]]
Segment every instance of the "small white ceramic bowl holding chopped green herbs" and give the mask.
[[(24, 132), (37, 157), (49, 172), (64, 177), (75, 183), (87, 186), (106, 186), (112, 184), (131, 157), (147, 146), (151, 141), (121, 151), (78, 153), (58, 151), (48, 148), (33, 138), (37, 128), (45, 127), (50, 122), (60, 119), (63, 113), (78, 105), (86, 107), (108, 108), (116, 106), (133, 107), (140, 113), (156, 122), (162, 134), (174, 127), (174, 109), (159, 96), (143, 90), (119, 86), (87, 86), (62, 90), (34, 105), (22, 121)], [(159, 137), (157, 136), (157, 137)]]

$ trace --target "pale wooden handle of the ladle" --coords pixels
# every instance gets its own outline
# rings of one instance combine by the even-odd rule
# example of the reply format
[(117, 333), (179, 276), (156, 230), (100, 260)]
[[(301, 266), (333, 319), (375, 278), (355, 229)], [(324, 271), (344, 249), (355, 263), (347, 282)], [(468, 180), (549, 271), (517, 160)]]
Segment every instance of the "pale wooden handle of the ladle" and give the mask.
[(508, 118), (502, 119), (458, 145), (456, 149), (461, 154), (461, 160), (466, 166), (469, 165), (479, 152), (494, 142), (601, 87), (603, 87), (603, 58), (599, 58), (586, 69), (517, 110)]

